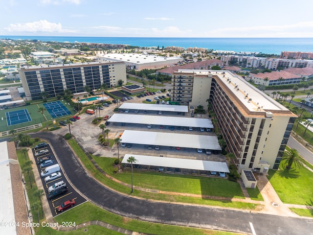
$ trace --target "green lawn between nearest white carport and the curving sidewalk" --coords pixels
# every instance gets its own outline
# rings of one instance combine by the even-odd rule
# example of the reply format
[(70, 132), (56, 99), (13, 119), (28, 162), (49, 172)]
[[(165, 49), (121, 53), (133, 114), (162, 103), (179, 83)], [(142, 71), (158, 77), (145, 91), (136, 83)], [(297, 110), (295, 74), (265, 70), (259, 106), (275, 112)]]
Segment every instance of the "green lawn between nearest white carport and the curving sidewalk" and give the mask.
[[(123, 169), (123, 173), (113, 173), (110, 158), (92, 156), (94, 161), (108, 174), (127, 184), (131, 184), (131, 170)], [(174, 175), (151, 171), (134, 170), (134, 186), (141, 188), (211, 195), (217, 197), (244, 198), (238, 183), (220, 178), (208, 178), (189, 175)]]

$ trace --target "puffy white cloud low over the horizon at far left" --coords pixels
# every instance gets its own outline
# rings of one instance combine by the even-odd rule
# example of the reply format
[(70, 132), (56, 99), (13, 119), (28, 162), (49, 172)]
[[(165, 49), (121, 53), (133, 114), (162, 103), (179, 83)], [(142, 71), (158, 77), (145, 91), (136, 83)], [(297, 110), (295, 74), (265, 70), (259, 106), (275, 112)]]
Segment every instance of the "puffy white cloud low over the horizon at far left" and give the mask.
[(46, 20), (34, 21), (25, 24), (10, 24), (5, 28), (9, 32), (73, 32), (62, 28), (62, 25), (51, 23)]

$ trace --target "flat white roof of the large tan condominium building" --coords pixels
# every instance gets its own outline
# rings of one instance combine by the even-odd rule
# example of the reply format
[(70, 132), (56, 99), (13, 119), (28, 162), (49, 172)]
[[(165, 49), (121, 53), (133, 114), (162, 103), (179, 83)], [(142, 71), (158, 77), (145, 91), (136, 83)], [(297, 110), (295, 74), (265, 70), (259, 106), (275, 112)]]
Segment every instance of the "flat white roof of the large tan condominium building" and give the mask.
[[(242, 77), (231, 73), (230, 71), (213, 70), (179, 70), (181, 72), (193, 72), (198, 75), (218, 76), (220, 81), (229, 88), (241, 103), (251, 112), (266, 112), (266, 110), (289, 111), (286, 107), (276, 102), (264, 92), (255, 88)], [(249, 99), (251, 99), (249, 101)], [(260, 109), (258, 109), (260, 107)]]

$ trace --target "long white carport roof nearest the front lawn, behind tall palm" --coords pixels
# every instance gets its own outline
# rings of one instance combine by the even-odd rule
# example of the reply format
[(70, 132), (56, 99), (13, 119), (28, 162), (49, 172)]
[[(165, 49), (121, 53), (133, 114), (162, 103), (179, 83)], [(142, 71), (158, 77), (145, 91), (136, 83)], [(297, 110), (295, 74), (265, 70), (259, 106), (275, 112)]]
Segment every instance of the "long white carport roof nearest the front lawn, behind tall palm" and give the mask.
[(136, 154), (125, 154), (122, 163), (127, 164), (129, 157), (136, 159), (135, 164), (140, 165), (155, 165), (163, 167), (174, 167), (182, 169), (193, 169), (193, 170), (206, 170), (206, 171), (220, 171), (229, 173), (227, 164), (224, 162), (212, 162), (203, 160), (192, 160), (183, 158), (166, 158), (156, 157), (148, 155), (136, 155)]

